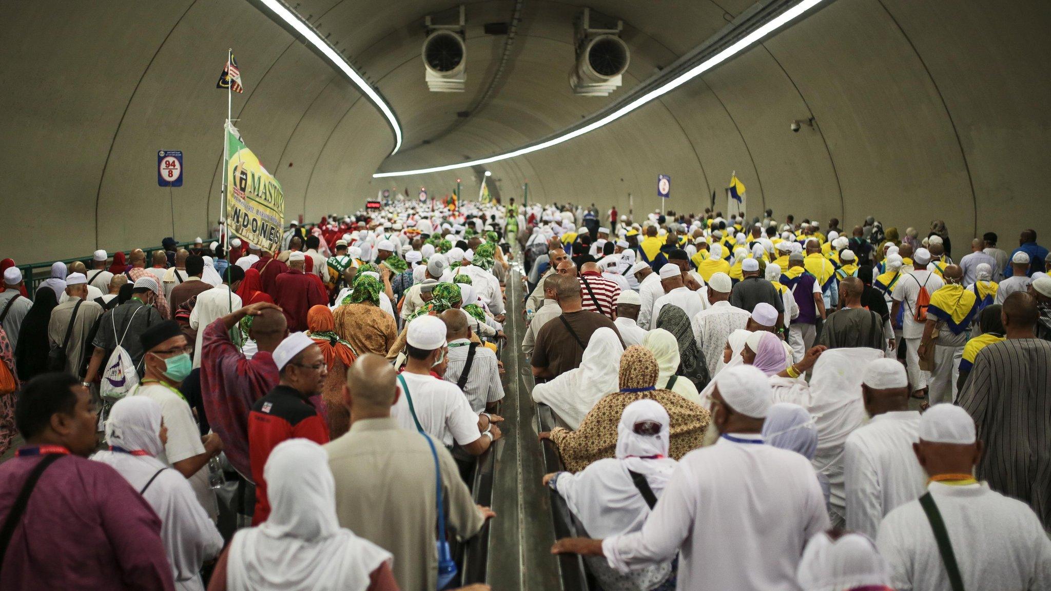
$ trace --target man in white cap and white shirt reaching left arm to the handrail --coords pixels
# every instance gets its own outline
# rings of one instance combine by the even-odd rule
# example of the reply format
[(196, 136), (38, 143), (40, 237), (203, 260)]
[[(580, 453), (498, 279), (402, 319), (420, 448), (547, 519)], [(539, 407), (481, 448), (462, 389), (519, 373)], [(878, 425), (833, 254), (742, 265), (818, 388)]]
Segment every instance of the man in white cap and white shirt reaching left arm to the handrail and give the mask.
[(680, 589), (798, 590), (803, 547), (829, 526), (813, 468), (798, 453), (763, 445), (771, 394), (759, 369), (724, 369), (712, 401), (723, 434), (679, 461), (641, 531), (563, 538), (552, 551), (604, 555), (621, 572), (680, 552)]

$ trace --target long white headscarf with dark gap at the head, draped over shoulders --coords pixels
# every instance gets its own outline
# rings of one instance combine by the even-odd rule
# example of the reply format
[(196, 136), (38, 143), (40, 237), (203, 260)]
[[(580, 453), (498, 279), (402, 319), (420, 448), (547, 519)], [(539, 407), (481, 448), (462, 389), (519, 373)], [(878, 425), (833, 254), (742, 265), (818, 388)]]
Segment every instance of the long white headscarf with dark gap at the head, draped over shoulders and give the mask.
[[(660, 432), (656, 435), (636, 433), (635, 425), (646, 421), (659, 424)], [(643, 474), (660, 498), (676, 465), (675, 460), (667, 457), (668, 437), (668, 416), (664, 407), (652, 400), (635, 401), (624, 408), (617, 425), (615, 458), (594, 462), (576, 474), (559, 474), (558, 492), (589, 535), (607, 537), (642, 528), (650, 515), (650, 506), (627, 471)], [(662, 457), (643, 458), (651, 455)]]

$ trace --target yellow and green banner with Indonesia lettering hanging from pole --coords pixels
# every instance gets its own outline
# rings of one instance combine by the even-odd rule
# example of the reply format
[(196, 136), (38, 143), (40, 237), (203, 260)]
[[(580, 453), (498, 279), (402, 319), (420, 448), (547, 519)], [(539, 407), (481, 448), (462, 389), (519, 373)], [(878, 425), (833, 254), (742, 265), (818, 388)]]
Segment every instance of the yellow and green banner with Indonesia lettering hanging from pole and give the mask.
[(226, 124), (226, 224), (233, 236), (275, 252), (281, 248), (285, 223), (285, 192), (241, 141), (238, 129)]

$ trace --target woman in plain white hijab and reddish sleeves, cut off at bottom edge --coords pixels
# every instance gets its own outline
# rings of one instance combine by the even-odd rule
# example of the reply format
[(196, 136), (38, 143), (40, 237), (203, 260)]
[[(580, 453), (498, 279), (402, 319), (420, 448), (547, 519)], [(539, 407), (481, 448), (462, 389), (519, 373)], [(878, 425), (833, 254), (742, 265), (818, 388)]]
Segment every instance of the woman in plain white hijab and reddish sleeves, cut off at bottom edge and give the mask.
[(391, 553), (341, 528), (328, 453), (303, 439), (273, 448), (263, 473), (270, 516), (234, 534), (209, 591), (396, 589)]

